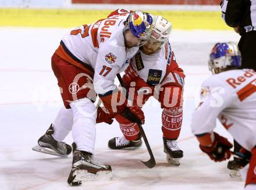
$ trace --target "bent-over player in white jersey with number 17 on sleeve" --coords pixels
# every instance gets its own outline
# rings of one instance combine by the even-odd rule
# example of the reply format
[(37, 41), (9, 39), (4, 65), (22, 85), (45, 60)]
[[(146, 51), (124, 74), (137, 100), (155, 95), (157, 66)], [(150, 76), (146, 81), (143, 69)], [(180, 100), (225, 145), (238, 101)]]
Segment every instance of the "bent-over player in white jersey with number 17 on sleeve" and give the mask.
[[(128, 61), (147, 42), (152, 32), (152, 17), (136, 10), (84, 24), (64, 36), (52, 56), (52, 70), (58, 79), (65, 108), (38, 140), (34, 150), (65, 156), (71, 147), (62, 140), (72, 130), (73, 164), (67, 182), (80, 185), (87, 177), (111, 173), (111, 166), (95, 162), (95, 123), (112, 123), (112, 115), (128, 110), (141, 113), (140, 107), (111, 102), (122, 93), (114, 83), (116, 74), (128, 67)], [(93, 104), (101, 98), (108, 114)], [(140, 114), (143, 115), (143, 114)], [(129, 119), (129, 118), (128, 118)], [(143, 116), (140, 118), (143, 119)]]

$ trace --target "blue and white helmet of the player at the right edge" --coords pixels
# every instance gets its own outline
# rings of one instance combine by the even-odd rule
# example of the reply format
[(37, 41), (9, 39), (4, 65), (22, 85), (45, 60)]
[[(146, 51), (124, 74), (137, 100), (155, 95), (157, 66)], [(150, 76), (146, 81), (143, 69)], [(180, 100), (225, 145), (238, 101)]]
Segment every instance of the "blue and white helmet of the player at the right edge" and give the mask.
[(209, 57), (209, 70), (213, 74), (215, 74), (214, 70), (216, 69), (239, 68), (241, 66), (241, 53), (234, 42), (216, 43)]

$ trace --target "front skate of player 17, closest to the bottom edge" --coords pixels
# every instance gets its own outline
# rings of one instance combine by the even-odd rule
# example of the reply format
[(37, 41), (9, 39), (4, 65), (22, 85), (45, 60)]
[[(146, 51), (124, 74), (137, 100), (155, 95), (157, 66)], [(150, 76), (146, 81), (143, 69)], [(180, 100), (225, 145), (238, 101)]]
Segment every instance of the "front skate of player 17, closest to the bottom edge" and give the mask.
[(70, 185), (81, 185), (82, 181), (90, 180), (98, 177), (112, 177), (111, 166), (95, 162), (93, 154), (86, 151), (76, 149), (76, 144), (73, 142), (73, 162), (72, 169), (67, 178)]

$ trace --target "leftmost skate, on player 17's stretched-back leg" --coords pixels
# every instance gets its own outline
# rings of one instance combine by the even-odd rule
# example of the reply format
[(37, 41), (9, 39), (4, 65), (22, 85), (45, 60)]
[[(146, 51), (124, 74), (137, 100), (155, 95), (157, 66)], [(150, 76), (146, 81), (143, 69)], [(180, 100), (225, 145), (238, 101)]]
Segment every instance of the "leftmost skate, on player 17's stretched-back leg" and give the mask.
[(72, 152), (70, 145), (65, 142), (56, 141), (54, 137), (52, 137), (52, 134), (54, 134), (54, 129), (51, 124), (46, 133), (38, 139), (38, 145), (32, 148), (33, 151), (61, 157), (69, 155)]

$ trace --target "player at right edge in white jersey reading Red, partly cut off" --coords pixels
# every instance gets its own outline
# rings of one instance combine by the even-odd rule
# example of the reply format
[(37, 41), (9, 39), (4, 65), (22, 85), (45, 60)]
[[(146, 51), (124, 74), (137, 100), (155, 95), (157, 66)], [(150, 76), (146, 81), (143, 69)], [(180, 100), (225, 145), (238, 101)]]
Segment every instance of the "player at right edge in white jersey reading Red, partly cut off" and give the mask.
[(240, 52), (233, 42), (216, 43), (210, 54), (213, 74), (202, 83), (201, 103), (191, 129), (200, 148), (215, 162), (230, 158), (232, 144), (214, 132), (216, 119), (243, 148), (234, 152), (243, 161), (245, 189), (256, 189), (256, 72), (241, 70)]

